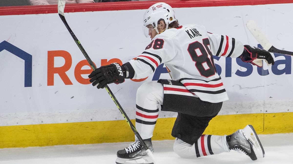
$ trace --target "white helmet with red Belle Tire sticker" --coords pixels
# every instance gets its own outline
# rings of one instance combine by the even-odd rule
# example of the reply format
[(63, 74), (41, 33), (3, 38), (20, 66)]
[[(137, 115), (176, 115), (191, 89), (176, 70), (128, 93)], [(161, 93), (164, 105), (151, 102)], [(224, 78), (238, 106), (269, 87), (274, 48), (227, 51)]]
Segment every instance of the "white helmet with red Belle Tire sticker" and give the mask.
[(173, 8), (163, 2), (156, 3), (149, 7), (149, 9), (144, 13), (143, 23), (144, 26), (153, 25), (156, 32), (159, 33), (157, 27), (159, 20), (163, 19), (166, 23), (166, 29), (170, 23), (176, 21), (175, 12)]

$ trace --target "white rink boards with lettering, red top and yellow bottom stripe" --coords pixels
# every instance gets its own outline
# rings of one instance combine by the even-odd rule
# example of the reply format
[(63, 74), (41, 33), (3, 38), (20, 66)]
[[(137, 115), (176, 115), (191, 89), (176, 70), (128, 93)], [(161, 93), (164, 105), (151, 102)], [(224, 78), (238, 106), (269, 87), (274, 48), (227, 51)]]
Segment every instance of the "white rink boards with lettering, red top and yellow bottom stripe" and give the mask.
[[(70, 27), (97, 67), (127, 62), (149, 44), (141, 22), (154, 1), (130, 3), (66, 7)], [(291, 1), (173, 0), (170, 4), (180, 24), (202, 24), (209, 32), (260, 47), (245, 27), (246, 21), (255, 20), (274, 46), (292, 50)], [(89, 84), (90, 67), (59, 19), (56, 5), (2, 7), (0, 13), (1, 148), (134, 139), (108, 93)], [(206, 133), (229, 134), (246, 124), (254, 125), (260, 134), (293, 132), (292, 57), (274, 55), (276, 64), (263, 68), (240, 59), (214, 59), (229, 101)], [(134, 120), (137, 88), (159, 78), (170, 78), (163, 64), (147, 79), (109, 86)], [(172, 139), (175, 117), (176, 113), (160, 112), (154, 140)]]

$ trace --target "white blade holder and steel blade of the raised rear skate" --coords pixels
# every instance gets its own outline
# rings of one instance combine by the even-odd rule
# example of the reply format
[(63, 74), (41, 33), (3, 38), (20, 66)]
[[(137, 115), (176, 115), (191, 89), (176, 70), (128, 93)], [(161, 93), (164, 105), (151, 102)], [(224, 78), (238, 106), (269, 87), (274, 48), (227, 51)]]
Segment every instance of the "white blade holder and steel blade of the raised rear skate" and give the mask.
[(265, 150), (263, 149), (263, 146), (261, 145), (261, 142), (253, 126), (247, 125), (245, 128), (243, 128), (242, 131), (245, 138), (250, 140), (253, 143), (252, 148), (255, 152), (256, 157), (260, 157), (260, 158), (265, 157)]

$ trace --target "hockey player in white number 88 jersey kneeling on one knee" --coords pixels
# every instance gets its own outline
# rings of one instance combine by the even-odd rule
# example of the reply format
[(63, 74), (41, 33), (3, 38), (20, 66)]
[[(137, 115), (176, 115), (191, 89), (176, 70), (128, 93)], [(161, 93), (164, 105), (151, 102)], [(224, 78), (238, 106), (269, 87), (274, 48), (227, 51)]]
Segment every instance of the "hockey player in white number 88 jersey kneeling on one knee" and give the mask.
[[(243, 62), (262, 66), (262, 60), (274, 64), (270, 53), (244, 45), (230, 36), (212, 34), (202, 25), (178, 24), (173, 8), (166, 3), (152, 5), (144, 14), (144, 26), (151, 43), (137, 59), (122, 66), (118, 63), (102, 66), (88, 77), (97, 88), (123, 83), (125, 78), (140, 79), (152, 74), (164, 63), (172, 80), (160, 79), (142, 84), (136, 97), (136, 129), (153, 151), (151, 137), (162, 111), (177, 112), (171, 135), (175, 137), (174, 152), (182, 158), (201, 157), (230, 150), (244, 152), (252, 160), (263, 158), (265, 152), (252, 125), (231, 135), (202, 135), (228, 96), (217, 74), (212, 55), (239, 57)], [(137, 162), (147, 158), (138, 139), (129, 147), (117, 151), (117, 164)]]

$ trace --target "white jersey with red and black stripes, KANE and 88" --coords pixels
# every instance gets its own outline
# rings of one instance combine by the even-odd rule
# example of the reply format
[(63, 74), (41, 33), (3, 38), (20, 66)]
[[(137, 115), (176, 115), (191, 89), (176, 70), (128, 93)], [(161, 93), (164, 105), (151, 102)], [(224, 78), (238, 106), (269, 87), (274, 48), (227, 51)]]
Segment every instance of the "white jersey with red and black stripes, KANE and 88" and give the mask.
[(184, 25), (156, 35), (137, 60), (129, 62), (134, 79), (149, 76), (164, 63), (172, 80), (195, 97), (216, 103), (228, 100), (228, 95), (212, 55), (239, 57), (242, 52), (243, 44), (232, 37), (209, 33), (202, 25)]

